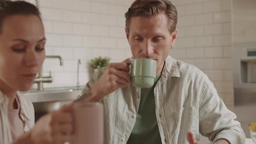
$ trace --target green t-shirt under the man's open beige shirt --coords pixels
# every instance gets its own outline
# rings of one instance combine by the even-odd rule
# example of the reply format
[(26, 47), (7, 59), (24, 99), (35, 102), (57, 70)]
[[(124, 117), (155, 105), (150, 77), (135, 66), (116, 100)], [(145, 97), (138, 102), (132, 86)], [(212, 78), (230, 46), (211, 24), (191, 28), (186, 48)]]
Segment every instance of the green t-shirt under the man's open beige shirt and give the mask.
[(161, 74), (156, 77), (151, 88), (141, 88), (141, 100), (135, 126), (127, 144), (161, 144), (154, 100), (154, 87), (160, 76)]

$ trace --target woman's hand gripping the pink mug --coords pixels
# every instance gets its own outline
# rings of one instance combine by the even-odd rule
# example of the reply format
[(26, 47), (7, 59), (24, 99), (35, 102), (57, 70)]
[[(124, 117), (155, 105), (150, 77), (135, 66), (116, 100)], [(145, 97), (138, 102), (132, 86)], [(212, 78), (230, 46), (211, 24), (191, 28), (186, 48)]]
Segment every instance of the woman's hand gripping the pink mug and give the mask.
[(40, 118), (31, 130), (31, 140), (35, 144), (63, 144), (72, 141), (73, 104), (66, 105)]

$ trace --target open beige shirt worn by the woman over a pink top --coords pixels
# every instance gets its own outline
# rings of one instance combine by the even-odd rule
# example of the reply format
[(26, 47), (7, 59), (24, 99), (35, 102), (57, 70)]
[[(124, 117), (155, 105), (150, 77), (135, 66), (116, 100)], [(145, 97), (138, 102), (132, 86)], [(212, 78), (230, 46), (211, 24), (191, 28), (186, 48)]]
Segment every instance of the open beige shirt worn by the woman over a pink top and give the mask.
[[(26, 132), (35, 124), (34, 107), (20, 92), (17, 98), (20, 101), (20, 118), (24, 124), (24, 132)], [(8, 98), (0, 91), (0, 144), (10, 144), (13, 141), (8, 121), (8, 101)]]

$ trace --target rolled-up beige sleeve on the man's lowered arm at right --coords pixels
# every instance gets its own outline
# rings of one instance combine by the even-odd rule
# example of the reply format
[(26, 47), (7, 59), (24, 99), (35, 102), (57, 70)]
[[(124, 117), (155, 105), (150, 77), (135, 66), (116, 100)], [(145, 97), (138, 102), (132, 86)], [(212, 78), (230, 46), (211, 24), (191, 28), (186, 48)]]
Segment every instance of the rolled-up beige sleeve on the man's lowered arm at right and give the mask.
[(213, 83), (206, 77), (199, 107), (199, 131), (210, 141), (226, 139), (230, 144), (244, 144), (245, 134), (236, 121), (236, 115), (228, 110), (219, 98)]

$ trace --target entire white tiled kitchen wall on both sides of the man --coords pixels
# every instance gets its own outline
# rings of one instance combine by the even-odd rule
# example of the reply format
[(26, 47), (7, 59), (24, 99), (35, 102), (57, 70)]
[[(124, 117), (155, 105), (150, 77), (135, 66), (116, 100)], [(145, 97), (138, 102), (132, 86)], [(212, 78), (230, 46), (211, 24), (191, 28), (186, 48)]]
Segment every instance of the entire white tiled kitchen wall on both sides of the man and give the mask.
[[(133, 0), (39, 0), (46, 29), (44, 75), (53, 83), (44, 87), (76, 85), (78, 59), (81, 85), (93, 72), (90, 59), (108, 56), (112, 62), (130, 57), (124, 14)], [(170, 55), (196, 65), (213, 81), (220, 97), (233, 105), (231, 67), (231, 0), (171, 0), (178, 10), (178, 38)], [(34, 85), (36, 87), (36, 84)]]

